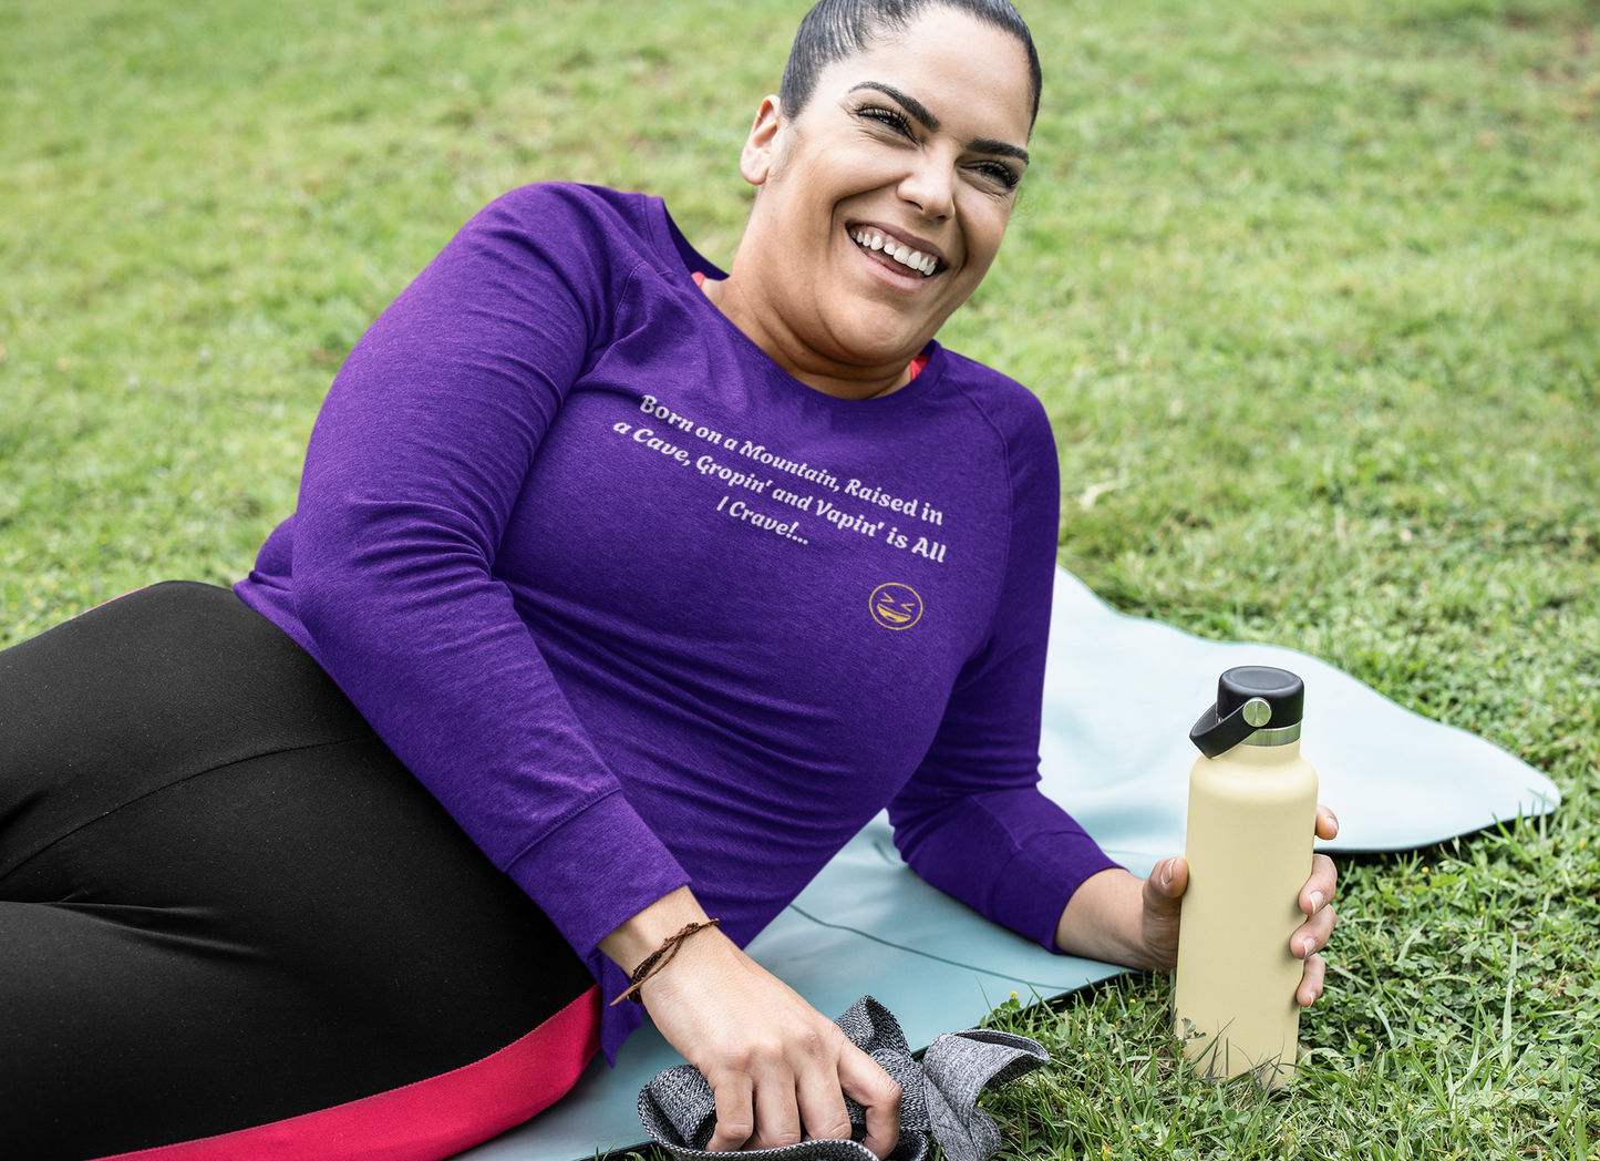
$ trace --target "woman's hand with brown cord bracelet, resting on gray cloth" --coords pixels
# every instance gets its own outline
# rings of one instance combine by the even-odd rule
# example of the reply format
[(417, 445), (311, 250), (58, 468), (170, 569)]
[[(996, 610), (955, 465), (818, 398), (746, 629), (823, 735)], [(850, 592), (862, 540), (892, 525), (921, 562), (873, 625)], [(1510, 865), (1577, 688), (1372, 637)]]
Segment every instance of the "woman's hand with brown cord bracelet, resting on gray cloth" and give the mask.
[[(666, 937), (701, 919), (706, 913), (682, 887), (611, 932), (600, 950), (630, 972)], [(888, 1156), (899, 1142), (899, 1086), (720, 930), (685, 940), (642, 996), (661, 1034), (717, 1097), (712, 1151), (850, 1137), (845, 1094), (866, 1108), (869, 1150)]]

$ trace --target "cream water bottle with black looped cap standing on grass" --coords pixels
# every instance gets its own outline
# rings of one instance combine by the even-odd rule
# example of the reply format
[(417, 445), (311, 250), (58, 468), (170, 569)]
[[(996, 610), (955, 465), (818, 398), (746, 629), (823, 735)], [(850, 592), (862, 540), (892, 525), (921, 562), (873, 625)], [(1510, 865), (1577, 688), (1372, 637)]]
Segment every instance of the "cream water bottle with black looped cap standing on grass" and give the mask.
[(1202, 1076), (1253, 1073), (1277, 1087), (1294, 1073), (1302, 962), (1290, 935), (1306, 916), (1317, 772), (1299, 753), (1306, 685), (1242, 666), (1189, 738), (1189, 889), (1178, 937), (1173, 1031)]

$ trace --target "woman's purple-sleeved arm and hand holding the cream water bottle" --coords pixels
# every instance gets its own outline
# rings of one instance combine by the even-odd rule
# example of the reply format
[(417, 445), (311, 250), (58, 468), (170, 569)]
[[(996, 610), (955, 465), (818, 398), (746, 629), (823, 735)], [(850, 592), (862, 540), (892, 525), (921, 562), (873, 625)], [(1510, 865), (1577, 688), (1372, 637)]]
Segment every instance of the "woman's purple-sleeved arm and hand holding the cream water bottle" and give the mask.
[[(1048, 426), (1042, 415), (1019, 410), (1010, 424), (997, 423), (1008, 432), (1014, 500), (992, 634), (963, 668), (917, 775), (890, 804), (894, 841), (923, 879), (1046, 948), (1170, 970), (1184, 860), (1170, 858), (1138, 879), (1038, 791), (1059, 492)], [(1336, 830), (1333, 814), (1318, 809), (1318, 834), (1333, 838)], [(1317, 855), (1301, 894), (1309, 918), (1293, 935), (1294, 954), (1306, 959), (1302, 1006), (1322, 993), (1315, 950), (1333, 930), (1334, 884), (1331, 860)]]

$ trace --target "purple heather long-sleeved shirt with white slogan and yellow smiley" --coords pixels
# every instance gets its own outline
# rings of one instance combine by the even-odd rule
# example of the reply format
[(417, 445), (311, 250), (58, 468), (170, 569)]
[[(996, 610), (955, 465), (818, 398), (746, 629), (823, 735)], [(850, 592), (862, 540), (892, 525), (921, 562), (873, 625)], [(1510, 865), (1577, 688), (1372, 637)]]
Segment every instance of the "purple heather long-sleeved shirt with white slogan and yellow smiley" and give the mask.
[[(1051, 946), (1114, 863), (1037, 789), (1056, 452), (930, 344), (840, 400), (694, 285), (659, 199), (477, 215), (373, 323), (238, 583), (587, 959), (691, 884), (747, 943), (885, 805)], [(614, 1054), (638, 1009), (606, 1010)]]

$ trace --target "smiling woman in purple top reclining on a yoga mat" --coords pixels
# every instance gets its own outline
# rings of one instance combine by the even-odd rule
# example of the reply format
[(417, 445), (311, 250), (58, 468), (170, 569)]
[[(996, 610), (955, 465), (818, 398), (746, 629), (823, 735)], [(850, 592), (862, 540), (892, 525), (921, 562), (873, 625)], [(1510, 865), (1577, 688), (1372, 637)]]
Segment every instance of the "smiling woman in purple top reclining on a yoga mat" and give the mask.
[(446, 1156), (614, 1052), (602, 993), (706, 1073), (714, 1148), (850, 1095), (882, 1156), (894, 1084), (739, 948), (885, 804), (990, 918), (1171, 964), (1182, 860), (1138, 881), (1035, 788), (1043, 412), (933, 343), (1038, 86), (1003, 0), (824, 0), (726, 277), (656, 200), (506, 195), (350, 354), (237, 596), (0, 655), (29, 1156)]

